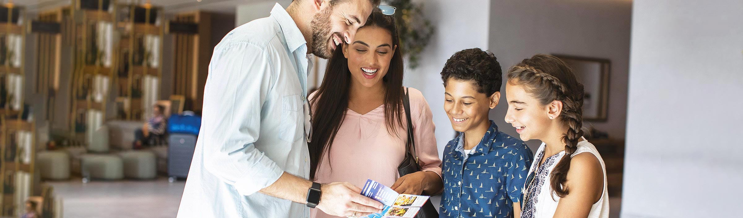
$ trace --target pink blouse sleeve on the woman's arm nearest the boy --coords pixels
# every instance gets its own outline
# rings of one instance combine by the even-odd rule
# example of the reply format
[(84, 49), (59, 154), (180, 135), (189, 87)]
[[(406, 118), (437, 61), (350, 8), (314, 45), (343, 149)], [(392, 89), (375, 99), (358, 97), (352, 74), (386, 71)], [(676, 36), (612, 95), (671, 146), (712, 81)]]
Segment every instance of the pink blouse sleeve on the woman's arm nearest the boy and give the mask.
[(428, 102), (419, 90), (410, 89), (410, 100), (413, 122), (413, 137), (415, 138), (415, 153), (421, 171), (432, 171), (441, 176), (441, 159), (438, 158), (438, 146), (436, 145), (435, 130), (433, 124), (433, 113)]

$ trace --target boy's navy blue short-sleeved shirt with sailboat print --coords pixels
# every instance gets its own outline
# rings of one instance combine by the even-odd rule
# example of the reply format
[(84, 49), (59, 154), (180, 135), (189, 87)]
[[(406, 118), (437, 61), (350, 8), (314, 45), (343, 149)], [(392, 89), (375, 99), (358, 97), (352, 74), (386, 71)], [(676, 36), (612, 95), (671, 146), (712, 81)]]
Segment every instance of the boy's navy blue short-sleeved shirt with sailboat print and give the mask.
[[(464, 153), (464, 133), (444, 148), (444, 217), (513, 217), (533, 154), (521, 140), (490, 129), (470, 153)], [(516, 167), (518, 166), (518, 167)]]

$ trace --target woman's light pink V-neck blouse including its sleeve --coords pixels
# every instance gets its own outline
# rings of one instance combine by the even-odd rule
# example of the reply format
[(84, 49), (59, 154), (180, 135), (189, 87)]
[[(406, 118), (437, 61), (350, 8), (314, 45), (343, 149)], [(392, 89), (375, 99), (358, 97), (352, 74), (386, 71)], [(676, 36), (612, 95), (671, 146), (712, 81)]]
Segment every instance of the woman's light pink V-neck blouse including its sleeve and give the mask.
[[(441, 176), (441, 159), (434, 135), (431, 109), (421, 91), (409, 88), (410, 111), (418, 163), (423, 171)], [(403, 116), (403, 124), (406, 123)], [(384, 105), (366, 114), (348, 109), (331, 151), (320, 162), (315, 182), (351, 182), (363, 188), (366, 179), (391, 187), (400, 177), (398, 165), (405, 158), (406, 128), (397, 128), (398, 136), (387, 131)], [(311, 217), (332, 217), (311, 209)]]

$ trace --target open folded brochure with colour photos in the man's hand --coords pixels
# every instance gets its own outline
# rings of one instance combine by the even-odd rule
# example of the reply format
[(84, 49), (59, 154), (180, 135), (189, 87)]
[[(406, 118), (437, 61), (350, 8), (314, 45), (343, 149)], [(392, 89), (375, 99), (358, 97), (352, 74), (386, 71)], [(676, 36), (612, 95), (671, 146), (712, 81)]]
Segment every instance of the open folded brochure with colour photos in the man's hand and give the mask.
[(384, 205), (384, 209), (381, 213), (366, 216), (369, 218), (415, 217), (415, 214), (418, 214), (418, 211), (421, 210), (421, 206), (423, 206), (430, 197), (412, 194), (398, 194), (396, 191), (392, 190), (392, 188), (371, 179), (366, 180), (366, 185), (364, 185), (361, 194), (377, 200)]

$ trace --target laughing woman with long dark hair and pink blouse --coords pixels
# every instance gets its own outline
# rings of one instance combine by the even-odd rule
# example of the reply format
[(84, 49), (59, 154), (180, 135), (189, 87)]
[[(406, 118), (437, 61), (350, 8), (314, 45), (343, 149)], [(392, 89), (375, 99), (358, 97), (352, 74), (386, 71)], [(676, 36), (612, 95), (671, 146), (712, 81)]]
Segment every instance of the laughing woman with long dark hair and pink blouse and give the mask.
[[(422, 171), (400, 177), (407, 122), (403, 112), (403, 59), (393, 16), (375, 9), (351, 44), (335, 50), (325, 79), (311, 95), (313, 133), (308, 144), (315, 182), (374, 179), (400, 194), (437, 194), (441, 159), (432, 113), (420, 91), (409, 89), (416, 155)], [(313, 210), (312, 217), (330, 217)]]

